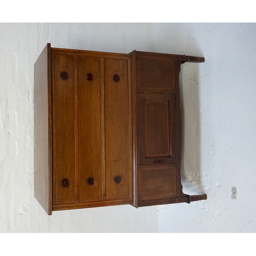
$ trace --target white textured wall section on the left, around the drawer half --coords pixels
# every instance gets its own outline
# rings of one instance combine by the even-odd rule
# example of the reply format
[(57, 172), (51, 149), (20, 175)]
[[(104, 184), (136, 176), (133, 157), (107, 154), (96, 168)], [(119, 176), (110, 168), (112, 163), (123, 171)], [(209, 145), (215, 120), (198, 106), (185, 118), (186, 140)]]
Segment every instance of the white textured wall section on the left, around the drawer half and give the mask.
[(34, 198), (33, 65), (52, 47), (154, 51), (152, 24), (0, 24), (0, 232), (158, 232), (157, 207), (56, 211)]

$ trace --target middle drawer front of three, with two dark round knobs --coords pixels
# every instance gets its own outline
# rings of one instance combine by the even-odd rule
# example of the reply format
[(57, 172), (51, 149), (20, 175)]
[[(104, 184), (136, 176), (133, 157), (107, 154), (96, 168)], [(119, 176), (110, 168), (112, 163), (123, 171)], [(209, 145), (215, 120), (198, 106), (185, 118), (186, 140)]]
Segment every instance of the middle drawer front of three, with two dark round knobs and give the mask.
[(100, 58), (78, 56), (77, 67), (79, 202), (100, 201), (102, 184)]

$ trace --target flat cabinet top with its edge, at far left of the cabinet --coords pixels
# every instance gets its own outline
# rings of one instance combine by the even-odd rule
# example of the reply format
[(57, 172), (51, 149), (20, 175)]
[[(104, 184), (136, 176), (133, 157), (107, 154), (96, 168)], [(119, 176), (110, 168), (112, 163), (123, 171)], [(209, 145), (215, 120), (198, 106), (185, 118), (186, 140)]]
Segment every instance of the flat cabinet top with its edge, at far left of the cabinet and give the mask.
[(51, 45), (47, 44), (34, 65), (34, 196), (48, 215), (52, 214), (50, 73)]

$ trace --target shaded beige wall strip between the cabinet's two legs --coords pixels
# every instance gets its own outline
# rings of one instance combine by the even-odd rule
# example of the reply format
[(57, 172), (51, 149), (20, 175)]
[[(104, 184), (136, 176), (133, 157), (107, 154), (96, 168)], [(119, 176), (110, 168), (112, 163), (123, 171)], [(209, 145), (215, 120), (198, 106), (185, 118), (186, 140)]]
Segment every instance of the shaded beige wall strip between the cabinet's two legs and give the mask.
[[(203, 57), (201, 55), (200, 57)], [(183, 193), (206, 194), (201, 169), (201, 108), (199, 65), (186, 62), (181, 65), (180, 97), (182, 116), (181, 182)]]

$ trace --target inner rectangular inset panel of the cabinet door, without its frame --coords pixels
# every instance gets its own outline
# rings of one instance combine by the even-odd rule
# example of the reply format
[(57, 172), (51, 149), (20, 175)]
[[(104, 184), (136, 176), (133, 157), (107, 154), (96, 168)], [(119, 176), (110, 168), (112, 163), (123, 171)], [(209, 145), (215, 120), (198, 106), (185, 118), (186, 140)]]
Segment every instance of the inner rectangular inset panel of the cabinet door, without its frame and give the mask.
[(170, 157), (169, 101), (145, 99), (145, 157)]

